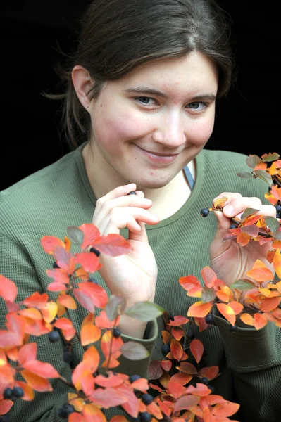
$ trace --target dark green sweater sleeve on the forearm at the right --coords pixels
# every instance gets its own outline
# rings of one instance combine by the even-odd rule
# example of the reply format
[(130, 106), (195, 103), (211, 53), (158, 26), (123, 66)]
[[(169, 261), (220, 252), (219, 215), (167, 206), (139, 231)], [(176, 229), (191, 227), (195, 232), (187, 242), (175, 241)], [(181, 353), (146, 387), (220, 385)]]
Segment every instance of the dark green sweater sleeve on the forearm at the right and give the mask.
[[(278, 421), (281, 414), (281, 331), (273, 322), (261, 330), (215, 316), (240, 404), (240, 422)], [(249, 400), (251, 397), (251, 400)], [(237, 417), (235, 417), (237, 418)]]

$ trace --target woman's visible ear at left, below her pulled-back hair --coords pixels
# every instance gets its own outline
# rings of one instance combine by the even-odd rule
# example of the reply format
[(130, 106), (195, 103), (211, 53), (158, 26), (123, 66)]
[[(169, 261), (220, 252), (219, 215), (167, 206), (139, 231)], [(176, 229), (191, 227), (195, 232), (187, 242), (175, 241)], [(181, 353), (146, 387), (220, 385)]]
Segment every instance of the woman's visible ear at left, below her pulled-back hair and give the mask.
[(77, 97), (79, 98), (80, 103), (82, 106), (88, 110), (91, 101), (87, 96), (87, 93), (93, 86), (93, 81), (89, 76), (89, 72), (80, 65), (75, 65), (73, 71), (71, 73), (73, 86)]

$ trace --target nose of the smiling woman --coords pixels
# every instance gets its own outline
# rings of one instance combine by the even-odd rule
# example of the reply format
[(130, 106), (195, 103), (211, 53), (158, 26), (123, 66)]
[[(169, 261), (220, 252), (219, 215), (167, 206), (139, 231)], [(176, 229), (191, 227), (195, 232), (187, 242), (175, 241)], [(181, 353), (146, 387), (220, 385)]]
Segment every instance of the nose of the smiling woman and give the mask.
[(173, 112), (163, 115), (152, 135), (152, 139), (154, 142), (161, 143), (169, 149), (182, 146), (186, 141), (186, 136), (180, 113), (173, 110)]

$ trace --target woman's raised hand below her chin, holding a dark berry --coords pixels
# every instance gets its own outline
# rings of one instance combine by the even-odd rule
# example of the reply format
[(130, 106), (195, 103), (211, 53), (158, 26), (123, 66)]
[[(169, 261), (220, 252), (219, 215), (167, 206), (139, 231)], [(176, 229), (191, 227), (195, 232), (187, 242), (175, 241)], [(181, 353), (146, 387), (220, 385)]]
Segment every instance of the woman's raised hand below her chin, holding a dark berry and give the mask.
[(99, 272), (111, 294), (125, 298), (127, 306), (137, 301), (153, 302), (157, 279), (157, 265), (146, 235), (145, 224), (157, 224), (159, 219), (149, 212), (152, 201), (135, 191), (135, 184), (119, 186), (96, 202), (92, 223), (101, 235), (120, 234), (127, 227), (127, 241), (132, 250), (125, 255), (110, 257), (101, 253)]

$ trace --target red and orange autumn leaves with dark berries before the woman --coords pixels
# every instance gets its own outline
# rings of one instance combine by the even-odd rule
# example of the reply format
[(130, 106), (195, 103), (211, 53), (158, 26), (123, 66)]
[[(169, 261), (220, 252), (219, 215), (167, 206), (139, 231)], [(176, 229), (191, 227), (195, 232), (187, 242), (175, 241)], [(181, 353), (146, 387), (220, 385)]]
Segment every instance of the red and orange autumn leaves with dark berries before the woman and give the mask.
[[(0, 330), (0, 415), (8, 414), (16, 399), (31, 401), (35, 391), (51, 393), (51, 379), (59, 378), (76, 390), (68, 394), (68, 403), (60, 414), (64, 412), (70, 422), (104, 422), (103, 409), (109, 407), (122, 407), (128, 415), (114, 416), (110, 422), (130, 421), (138, 415), (141, 421), (152, 422), (230, 420), (228, 417), (237, 412), (239, 404), (213, 394), (211, 381), (220, 376), (219, 368), (204, 367), (204, 345), (196, 338), (194, 327), (199, 328), (199, 333), (210, 328), (215, 313), (233, 328), (238, 319), (257, 330), (268, 321), (281, 326), (281, 160), (276, 153), (261, 158), (250, 155), (247, 164), (253, 170), (239, 173), (239, 177), (266, 181), (265, 198), (275, 205), (277, 218), (263, 217), (258, 210), (248, 208), (240, 219), (232, 219), (226, 238), (236, 238), (242, 247), (249, 241), (270, 243), (267, 259), (273, 271), (256, 260), (246, 274), (248, 278), (235, 280), (230, 287), (210, 267), (201, 270), (201, 279), (194, 275), (182, 277), (179, 283), (187, 295), (198, 299), (187, 309), (186, 316), (169, 315), (151, 302), (137, 302), (128, 308), (122, 297), (108, 298), (92, 276), (101, 267), (99, 254), (126, 254), (130, 245), (116, 234), (100, 236), (93, 224), (68, 227), (68, 236), (63, 240), (53, 236), (41, 239), (44, 251), (54, 258), (54, 266), (46, 274), (50, 278), (48, 290), (57, 293), (56, 300), (47, 293), (35, 292), (18, 302), (17, 286), (0, 275), (0, 296), (7, 309), (6, 324)], [(208, 210), (222, 210), (225, 200), (216, 200)], [(80, 246), (80, 252), (70, 252), (72, 243)], [(79, 332), (69, 312), (78, 306), (87, 310)], [(95, 308), (99, 308), (97, 316)], [(123, 343), (118, 330), (122, 314), (142, 321), (163, 318), (163, 359), (151, 361), (149, 380), (114, 371), (121, 354), (135, 360), (148, 355), (137, 342)], [(50, 342), (62, 338), (68, 353), (75, 341), (80, 342), (84, 354), (70, 380), (51, 364), (37, 359), (37, 343), (30, 342), (30, 335), (48, 335)], [(94, 345), (97, 342), (102, 355)]]

